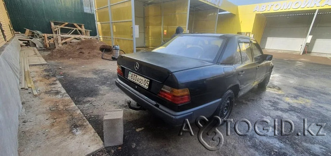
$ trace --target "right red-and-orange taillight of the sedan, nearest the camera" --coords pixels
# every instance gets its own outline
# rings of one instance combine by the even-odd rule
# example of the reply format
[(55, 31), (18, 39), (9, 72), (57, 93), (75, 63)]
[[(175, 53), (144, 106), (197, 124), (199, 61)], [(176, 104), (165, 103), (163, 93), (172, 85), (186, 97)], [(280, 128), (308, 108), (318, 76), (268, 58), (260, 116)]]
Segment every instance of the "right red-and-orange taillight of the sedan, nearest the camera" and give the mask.
[(190, 102), (190, 92), (189, 89), (174, 89), (168, 86), (163, 86), (158, 96), (165, 98), (168, 101), (171, 101), (175, 104), (183, 104)]

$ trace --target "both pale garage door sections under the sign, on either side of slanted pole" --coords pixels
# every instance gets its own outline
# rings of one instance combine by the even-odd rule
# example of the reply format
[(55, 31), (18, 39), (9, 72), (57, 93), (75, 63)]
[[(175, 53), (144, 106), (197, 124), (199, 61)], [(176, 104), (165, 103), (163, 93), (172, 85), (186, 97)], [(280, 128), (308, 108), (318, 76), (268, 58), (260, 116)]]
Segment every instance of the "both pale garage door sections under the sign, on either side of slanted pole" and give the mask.
[[(308, 52), (331, 54), (331, 10), (323, 9), (316, 16), (310, 35)], [(266, 15), (267, 23), (261, 39), (265, 49), (300, 51), (304, 46), (311, 21), (310, 15)]]

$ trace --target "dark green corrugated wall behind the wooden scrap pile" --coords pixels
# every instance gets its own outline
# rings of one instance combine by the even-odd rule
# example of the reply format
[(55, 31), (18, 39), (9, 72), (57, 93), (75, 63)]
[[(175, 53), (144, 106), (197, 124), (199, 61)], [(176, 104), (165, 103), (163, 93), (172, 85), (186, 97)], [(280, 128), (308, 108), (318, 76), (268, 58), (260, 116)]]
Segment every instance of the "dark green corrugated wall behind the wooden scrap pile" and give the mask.
[[(96, 36), (93, 13), (84, 12), (82, 0), (4, 0), (13, 29), (52, 33), (49, 21), (84, 24)], [(93, 7), (93, 5), (92, 5)], [(93, 8), (92, 8), (93, 9)]]

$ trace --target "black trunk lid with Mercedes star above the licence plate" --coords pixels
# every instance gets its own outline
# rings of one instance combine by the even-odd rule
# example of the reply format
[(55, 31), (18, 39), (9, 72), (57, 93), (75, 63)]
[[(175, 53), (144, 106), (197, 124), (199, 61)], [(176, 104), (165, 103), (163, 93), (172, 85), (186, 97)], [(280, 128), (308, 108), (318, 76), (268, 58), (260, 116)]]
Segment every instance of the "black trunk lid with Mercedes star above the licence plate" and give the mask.
[[(138, 63), (135, 67), (135, 64)], [(147, 78), (163, 83), (176, 71), (212, 65), (210, 62), (158, 52), (139, 52), (121, 55), (118, 64)]]

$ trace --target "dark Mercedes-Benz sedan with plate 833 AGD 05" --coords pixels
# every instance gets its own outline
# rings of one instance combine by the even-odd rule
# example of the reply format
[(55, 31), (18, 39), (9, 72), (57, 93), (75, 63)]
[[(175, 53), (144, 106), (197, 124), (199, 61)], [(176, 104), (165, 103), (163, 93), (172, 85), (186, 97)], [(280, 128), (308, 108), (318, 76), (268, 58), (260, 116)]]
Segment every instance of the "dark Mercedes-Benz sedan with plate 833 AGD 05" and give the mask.
[(234, 100), (265, 88), (273, 68), (255, 39), (237, 34), (178, 34), (152, 52), (121, 55), (116, 85), (170, 125), (199, 116), (229, 117)]

